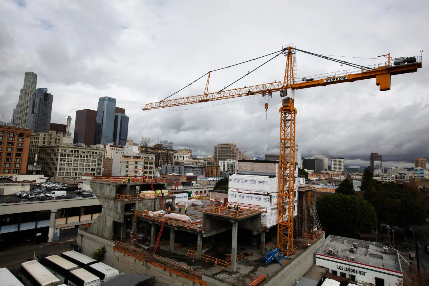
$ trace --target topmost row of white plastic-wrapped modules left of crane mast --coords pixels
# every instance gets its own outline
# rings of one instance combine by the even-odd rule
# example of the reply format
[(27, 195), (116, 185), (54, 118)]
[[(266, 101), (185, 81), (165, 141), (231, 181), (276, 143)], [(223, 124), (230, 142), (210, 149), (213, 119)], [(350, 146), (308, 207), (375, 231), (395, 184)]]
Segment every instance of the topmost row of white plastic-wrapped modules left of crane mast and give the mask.
[(250, 191), (278, 192), (278, 177), (256, 175), (231, 175), (228, 187)]

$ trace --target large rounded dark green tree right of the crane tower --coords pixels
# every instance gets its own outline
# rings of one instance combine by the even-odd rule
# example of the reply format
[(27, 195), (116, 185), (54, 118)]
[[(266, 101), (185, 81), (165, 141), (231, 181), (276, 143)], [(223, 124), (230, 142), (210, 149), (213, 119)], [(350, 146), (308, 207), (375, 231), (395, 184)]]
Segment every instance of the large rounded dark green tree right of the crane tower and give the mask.
[(343, 194), (327, 194), (316, 201), (317, 214), (326, 235), (369, 232), (377, 224), (374, 207), (362, 198)]

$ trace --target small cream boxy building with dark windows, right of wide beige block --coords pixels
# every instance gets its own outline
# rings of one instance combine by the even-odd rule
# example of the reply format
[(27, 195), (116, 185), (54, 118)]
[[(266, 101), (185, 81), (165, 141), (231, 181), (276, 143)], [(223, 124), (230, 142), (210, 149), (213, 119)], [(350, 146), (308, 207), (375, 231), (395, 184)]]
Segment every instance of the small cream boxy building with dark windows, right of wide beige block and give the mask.
[(153, 178), (155, 176), (155, 156), (137, 153), (136, 155), (122, 155), (120, 176)]

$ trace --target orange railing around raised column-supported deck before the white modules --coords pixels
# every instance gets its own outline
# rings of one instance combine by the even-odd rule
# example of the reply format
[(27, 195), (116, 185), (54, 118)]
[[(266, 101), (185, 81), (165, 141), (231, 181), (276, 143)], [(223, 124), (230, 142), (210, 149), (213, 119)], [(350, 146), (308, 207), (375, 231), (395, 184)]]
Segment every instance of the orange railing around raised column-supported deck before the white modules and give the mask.
[[(236, 210), (235, 207), (242, 208)], [(202, 213), (217, 214), (220, 216), (226, 216), (230, 218), (242, 218), (245, 216), (251, 216), (258, 213), (267, 212), (267, 209), (254, 204), (236, 204), (234, 202), (227, 203), (224, 207), (221, 204), (210, 204), (204, 207), (193, 207), (194, 210), (199, 210)]]

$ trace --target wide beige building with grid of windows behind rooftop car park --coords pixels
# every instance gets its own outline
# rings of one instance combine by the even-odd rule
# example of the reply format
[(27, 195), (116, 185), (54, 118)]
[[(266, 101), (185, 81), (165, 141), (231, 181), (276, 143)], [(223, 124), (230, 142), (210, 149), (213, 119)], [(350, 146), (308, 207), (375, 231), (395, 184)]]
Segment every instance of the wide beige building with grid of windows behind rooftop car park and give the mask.
[(72, 144), (39, 146), (37, 161), (45, 175), (80, 180), (86, 173), (101, 176), (103, 150)]

